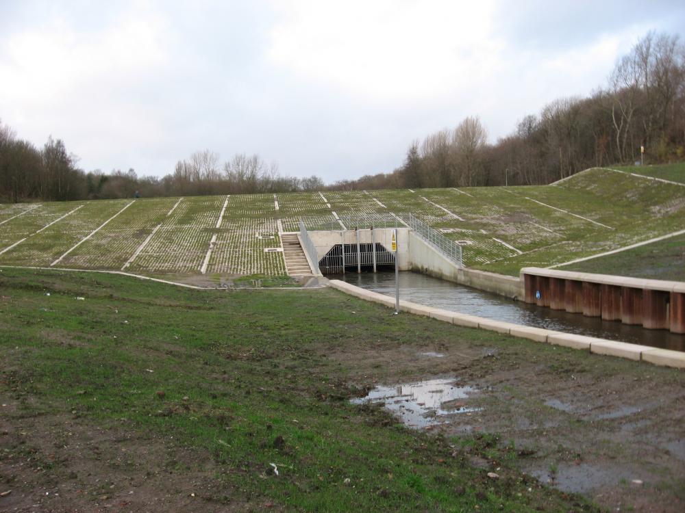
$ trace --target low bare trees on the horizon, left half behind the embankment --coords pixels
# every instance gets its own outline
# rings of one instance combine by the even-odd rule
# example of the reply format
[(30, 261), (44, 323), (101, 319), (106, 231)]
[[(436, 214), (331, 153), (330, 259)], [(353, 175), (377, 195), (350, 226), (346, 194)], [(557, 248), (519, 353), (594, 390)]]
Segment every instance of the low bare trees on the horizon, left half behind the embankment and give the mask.
[(62, 140), (49, 137), (42, 148), (36, 148), (0, 122), (0, 202), (299, 192), (324, 187), (318, 176), (284, 176), (276, 163), (245, 153), (221, 163), (218, 154), (198, 151), (178, 161), (173, 173), (162, 178), (138, 176), (133, 169), (85, 172), (78, 161)]

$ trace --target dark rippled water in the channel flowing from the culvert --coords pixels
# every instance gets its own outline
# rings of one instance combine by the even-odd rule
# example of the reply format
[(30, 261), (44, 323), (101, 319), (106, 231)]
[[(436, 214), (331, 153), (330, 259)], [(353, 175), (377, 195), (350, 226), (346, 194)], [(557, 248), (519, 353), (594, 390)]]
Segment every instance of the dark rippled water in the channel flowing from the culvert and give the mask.
[[(394, 272), (348, 272), (327, 277), (395, 296)], [(685, 351), (685, 335), (682, 334), (671, 333), (668, 330), (645, 330), (641, 326), (629, 326), (621, 321), (603, 321), (599, 317), (585, 317), (577, 313), (566, 313), (513, 301), (425, 274), (399, 273), (399, 291), (402, 300), (497, 321)]]

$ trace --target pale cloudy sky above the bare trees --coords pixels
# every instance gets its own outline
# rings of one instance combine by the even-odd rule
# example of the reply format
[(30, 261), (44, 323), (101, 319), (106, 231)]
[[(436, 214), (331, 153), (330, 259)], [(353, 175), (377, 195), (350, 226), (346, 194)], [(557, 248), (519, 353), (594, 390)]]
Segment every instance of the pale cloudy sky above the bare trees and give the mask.
[(87, 171), (208, 149), (332, 183), (466, 116), (497, 142), (684, 28), (680, 0), (0, 0), (0, 120)]

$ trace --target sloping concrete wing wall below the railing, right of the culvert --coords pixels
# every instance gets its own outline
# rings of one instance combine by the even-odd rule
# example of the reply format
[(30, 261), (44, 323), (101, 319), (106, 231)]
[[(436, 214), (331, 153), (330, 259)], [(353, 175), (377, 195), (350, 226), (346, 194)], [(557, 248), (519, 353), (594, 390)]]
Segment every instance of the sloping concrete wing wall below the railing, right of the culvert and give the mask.
[(409, 260), (412, 270), (429, 276), (503, 295), (507, 298), (521, 299), (523, 297), (520, 278), (458, 267), (414, 232), (409, 234)]

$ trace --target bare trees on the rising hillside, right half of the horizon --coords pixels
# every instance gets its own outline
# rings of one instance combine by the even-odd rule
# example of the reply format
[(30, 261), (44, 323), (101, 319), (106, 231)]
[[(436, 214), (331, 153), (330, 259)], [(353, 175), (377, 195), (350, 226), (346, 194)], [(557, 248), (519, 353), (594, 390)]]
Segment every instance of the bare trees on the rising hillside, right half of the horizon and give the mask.
[(685, 158), (685, 46), (650, 32), (621, 57), (605, 86), (586, 98), (561, 98), (524, 116), (512, 133), (488, 144), (469, 117), (410, 144), (390, 173), (340, 181), (334, 188), (381, 189), (533, 185), (619, 163)]

